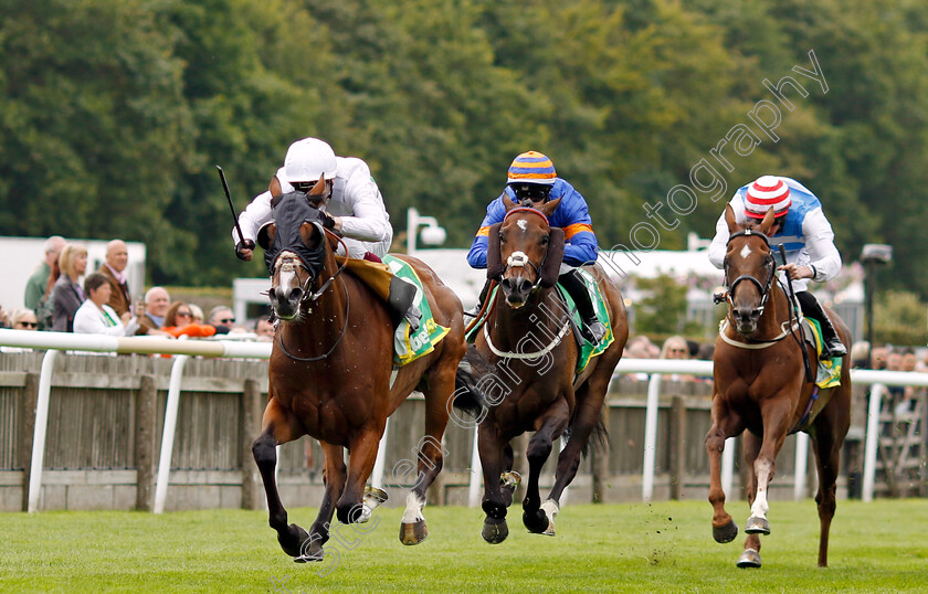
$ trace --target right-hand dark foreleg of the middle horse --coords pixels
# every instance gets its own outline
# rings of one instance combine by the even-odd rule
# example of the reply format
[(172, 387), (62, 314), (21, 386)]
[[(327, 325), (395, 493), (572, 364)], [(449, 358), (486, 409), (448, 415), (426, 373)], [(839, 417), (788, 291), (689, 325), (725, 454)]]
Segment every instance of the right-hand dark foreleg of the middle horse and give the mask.
[(558, 399), (539, 418), (537, 431), (528, 442), (526, 458), (528, 459), (528, 486), (523, 500), (523, 523), (529, 532), (537, 534), (555, 534), (553, 517), (557, 515), (557, 503), (541, 508), (541, 495), (538, 491), (538, 480), (541, 467), (551, 455), (553, 441), (563, 433), (570, 420), (570, 411), (565, 399)]

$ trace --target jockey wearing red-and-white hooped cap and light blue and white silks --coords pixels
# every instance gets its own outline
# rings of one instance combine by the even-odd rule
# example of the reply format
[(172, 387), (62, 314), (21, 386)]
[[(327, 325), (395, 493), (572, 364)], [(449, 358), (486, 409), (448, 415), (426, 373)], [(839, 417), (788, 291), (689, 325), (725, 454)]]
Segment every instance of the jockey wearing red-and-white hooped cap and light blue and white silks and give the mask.
[[(809, 293), (809, 280), (825, 283), (841, 272), (841, 254), (834, 246), (834, 232), (822, 212), (822, 203), (804, 185), (790, 178), (763, 176), (739, 188), (731, 199), (735, 220), (760, 221), (772, 206), (776, 220), (770, 230), (770, 246), (783, 244), (787, 262), (778, 269), (790, 275), (802, 312), (822, 326), (822, 359), (843, 357), (847, 348), (841, 342), (825, 310)], [(723, 214), (716, 223), (716, 235), (709, 245), (709, 261), (725, 266), (728, 224)]]

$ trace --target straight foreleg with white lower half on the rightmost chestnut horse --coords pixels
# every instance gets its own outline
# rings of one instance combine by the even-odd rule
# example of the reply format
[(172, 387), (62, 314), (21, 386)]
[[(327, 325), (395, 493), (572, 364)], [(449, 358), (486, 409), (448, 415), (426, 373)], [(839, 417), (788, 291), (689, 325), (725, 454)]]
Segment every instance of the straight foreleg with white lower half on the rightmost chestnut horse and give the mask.
[(761, 406), (763, 441), (753, 463), (757, 491), (755, 492), (755, 500), (751, 502), (751, 515), (745, 524), (745, 532), (748, 534), (770, 533), (770, 522), (767, 520), (767, 512), (770, 509), (767, 490), (777, 470), (777, 454), (783, 446), (783, 441), (787, 438), (792, 422), (794, 406), (788, 394), (789, 392), (781, 391)]

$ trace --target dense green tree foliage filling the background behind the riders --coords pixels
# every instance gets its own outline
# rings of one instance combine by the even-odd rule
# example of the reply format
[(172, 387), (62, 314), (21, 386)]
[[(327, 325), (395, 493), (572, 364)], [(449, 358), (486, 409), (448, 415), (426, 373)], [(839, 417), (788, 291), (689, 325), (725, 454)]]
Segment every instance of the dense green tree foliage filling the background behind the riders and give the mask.
[[(396, 227), (415, 206), (467, 246), (515, 155), (548, 153), (604, 246), (710, 235), (763, 173), (820, 195), (839, 248), (895, 246), (890, 287), (928, 295), (928, 6), (916, 0), (0, 0), (0, 233), (148, 245), (150, 280), (228, 284), (228, 205), (286, 147), (366, 159)], [(795, 67), (813, 51), (824, 92)], [(787, 109), (764, 86), (792, 76)], [(749, 113), (779, 106), (777, 140)], [(713, 158), (734, 127), (758, 144)], [(696, 192), (700, 160), (726, 191)], [(669, 224), (647, 209), (663, 204)]]

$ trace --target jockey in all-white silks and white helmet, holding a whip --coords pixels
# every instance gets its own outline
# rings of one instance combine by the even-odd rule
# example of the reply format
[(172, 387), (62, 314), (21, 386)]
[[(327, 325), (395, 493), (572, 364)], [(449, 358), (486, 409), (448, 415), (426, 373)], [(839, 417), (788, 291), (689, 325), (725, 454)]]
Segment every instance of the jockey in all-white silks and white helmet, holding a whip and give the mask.
[[(331, 147), (318, 138), (304, 138), (291, 145), (284, 158), (284, 167), (271, 179), (267, 191), (255, 197), (239, 215), (239, 226), (244, 236), (239, 237), (238, 230), (232, 230), (232, 240), (236, 242), (235, 255), (240, 259), (251, 261), (257, 231), (272, 221), (273, 197), (294, 191), (308, 193), (320, 178), (325, 178), (326, 182), (319, 205), (325, 218), (324, 226), (341, 235), (348, 248), (345, 254), (339, 245), (340, 255), (381, 262), (381, 256), (387, 255), (393, 241), (393, 227), (390, 226), (390, 215), (380, 189), (370, 174), (370, 168), (355, 157), (336, 157)], [(412, 285), (405, 285), (409, 284), (394, 283), (391, 287), (397, 286), (397, 290), (403, 293), (414, 289)], [(409, 300), (410, 295), (398, 297), (397, 300), (384, 299), (391, 308), (400, 307), (400, 303)], [(412, 332), (419, 329), (422, 314), (415, 305), (393, 314), (394, 319), (405, 317)]]

